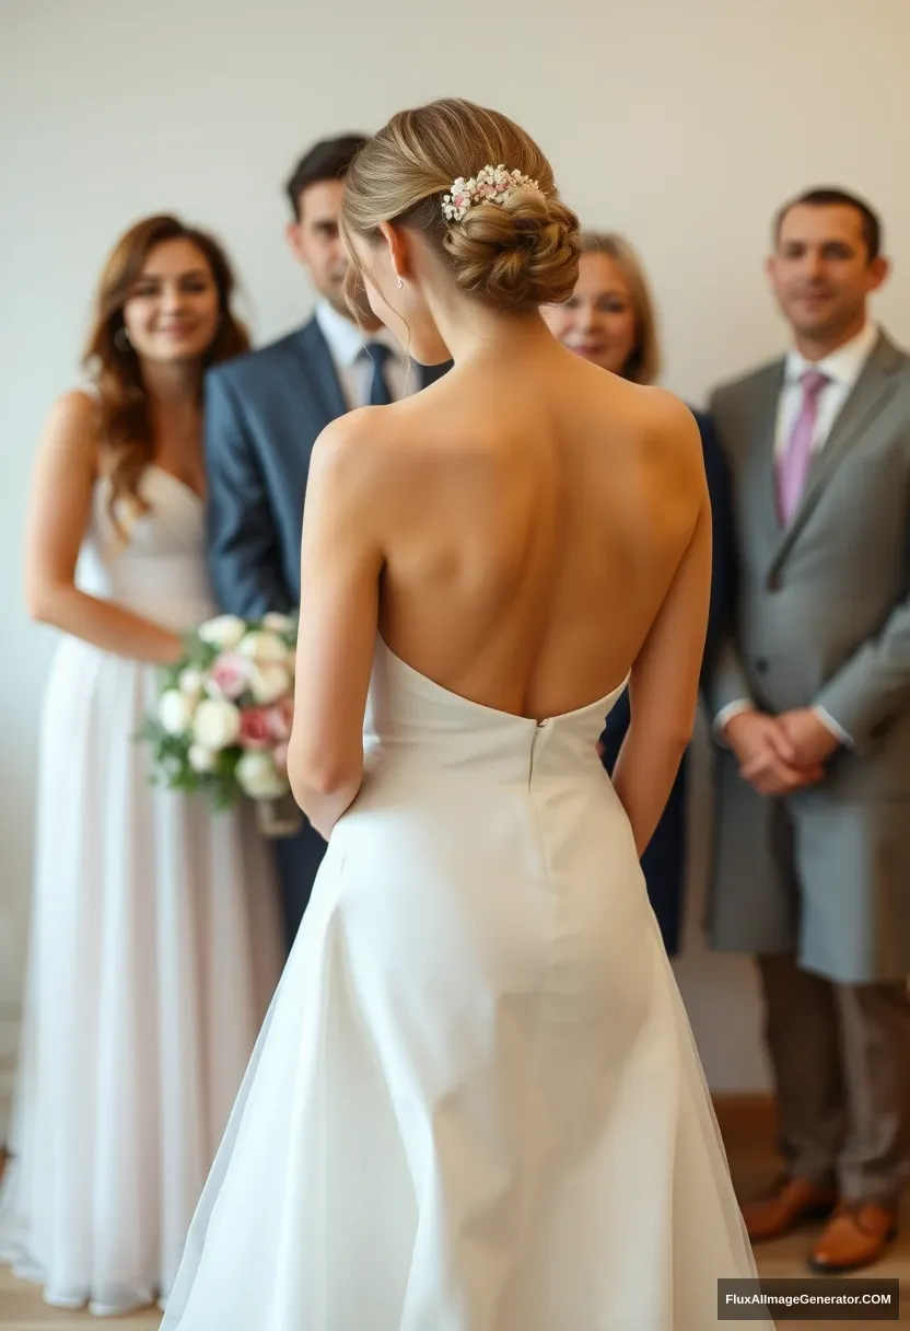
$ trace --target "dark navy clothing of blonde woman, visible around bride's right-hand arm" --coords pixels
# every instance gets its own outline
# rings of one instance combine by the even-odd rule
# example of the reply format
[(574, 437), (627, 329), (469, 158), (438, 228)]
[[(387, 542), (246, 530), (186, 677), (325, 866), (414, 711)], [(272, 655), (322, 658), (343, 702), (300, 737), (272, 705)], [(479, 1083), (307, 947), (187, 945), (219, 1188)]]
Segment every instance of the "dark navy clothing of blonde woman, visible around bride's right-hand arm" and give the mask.
[[(733, 603), (736, 546), (726, 461), (717, 442), (710, 417), (702, 411), (693, 411), (692, 414), (698, 422), (698, 430), (701, 431), (705, 476), (710, 495), (713, 540), (710, 607), (708, 611), (705, 655), (701, 667), (701, 681), (704, 685), (717, 656), (720, 639)], [(628, 693), (623, 693), (607, 717), (607, 728), (601, 735), (605, 748), (604, 767), (608, 772), (613, 771), (628, 725), (629, 699)], [(667, 952), (671, 956), (676, 954), (680, 949), (682, 925), (682, 889), (686, 858), (685, 785), (686, 759), (684, 757), (667, 801), (667, 808), (641, 857), (641, 868), (648, 884), (648, 896), (657, 916)]]

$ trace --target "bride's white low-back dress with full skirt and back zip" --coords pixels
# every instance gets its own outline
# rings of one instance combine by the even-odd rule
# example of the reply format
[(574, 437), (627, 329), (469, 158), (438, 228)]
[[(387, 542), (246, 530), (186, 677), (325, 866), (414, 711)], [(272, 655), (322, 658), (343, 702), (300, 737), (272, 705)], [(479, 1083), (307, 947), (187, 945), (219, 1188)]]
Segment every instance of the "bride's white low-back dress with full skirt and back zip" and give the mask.
[(595, 752), (620, 692), (537, 724), (377, 644), (162, 1331), (705, 1331), (754, 1276)]

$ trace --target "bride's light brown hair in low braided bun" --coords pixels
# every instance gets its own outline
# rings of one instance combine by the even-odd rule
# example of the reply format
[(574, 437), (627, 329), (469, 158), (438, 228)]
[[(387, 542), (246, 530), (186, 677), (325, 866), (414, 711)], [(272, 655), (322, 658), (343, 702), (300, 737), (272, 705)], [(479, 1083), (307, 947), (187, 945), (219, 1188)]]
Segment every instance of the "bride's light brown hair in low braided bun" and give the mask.
[[(522, 184), (502, 202), (482, 198), (466, 208), (470, 200), (452, 192), (455, 184), (472, 185), (490, 166), (537, 188)], [(492, 192), (495, 182), (487, 188)], [(443, 256), (455, 285), (495, 309), (560, 305), (575, 290), (579, 220), (560, 201), (549, 162), (514, 121), (470, 101), (402, 110), (359, 150), (342, 204), (354, 265), (351, 238), (377, 240), (382, 222), (419, 232)]]

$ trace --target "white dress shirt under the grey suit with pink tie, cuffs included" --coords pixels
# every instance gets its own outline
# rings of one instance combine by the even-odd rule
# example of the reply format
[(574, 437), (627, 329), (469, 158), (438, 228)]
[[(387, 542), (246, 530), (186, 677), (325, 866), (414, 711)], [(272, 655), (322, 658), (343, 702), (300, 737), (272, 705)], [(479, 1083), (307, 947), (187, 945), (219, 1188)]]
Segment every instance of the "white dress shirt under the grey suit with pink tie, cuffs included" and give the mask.
[[(786, 357), (786, 363), (784, 366), (784, 387), (781, 390), (781, 397), (777, 405), (777, 426), (774, 431), (774, 458), (780, 458), (788, 446), (793, 426), (800, 414), (800, 407), (802, 406), (802, 387), (800, 379), (806, 373), (806, 370), (818, 370), (824, 374), (829, 382), (818, 394), (818, 410), (816, 415), (816, 430), (812, 438), (813, 453), (818, 453), (825, 447), (828, 437), (832, 433), (832, 427), (837, 421), (843, 403), (849, 398), (853, 386), (862, 374), (863, 366), (869, 359), (875, 343), (878, 342), (878, 329), (874, 323), (866, 322), (862, 331), (857, 333), (854, 338), (845, 342), (830, 355), (826, 355), (822, 361), (806, 361), (806, 358), (792, 347)], [(720, 737), (722, 735), (724, 727), (736, 716), (737, 712), (752, 711), (754, 703), (746, 699), (738, 699), (734, 703), (729, 703), (726, 707), (721, 708), (714, 719), (714, 733)], [(834, 735), (841, 744), (847, 747), (853, 745), (853, 740), (837, 724), (833, 716), (825, 711), (824, 707), (814, 708), (816, 715), (821, 721), (825, 723), (828, 729)]]

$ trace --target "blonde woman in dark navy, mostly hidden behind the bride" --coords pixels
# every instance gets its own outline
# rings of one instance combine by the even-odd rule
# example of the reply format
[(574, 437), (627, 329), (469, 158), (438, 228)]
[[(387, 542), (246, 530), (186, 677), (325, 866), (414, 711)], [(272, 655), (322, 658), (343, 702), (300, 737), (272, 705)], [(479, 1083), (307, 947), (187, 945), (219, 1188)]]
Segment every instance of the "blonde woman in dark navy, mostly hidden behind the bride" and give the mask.
[[(651, 286), (632, 245), (616, 233), (584, 232), (579, 280), (568, 301), (544, 310), (556, 337), (576, 355), (631, 383), (656, 383), (661, 369), (657, 314)], [(730, 612), (734, 547), (726, 463), (710, 418), (693, 411), (701, 435), (712, 512), (712, 579), (702, 679), (710, 669)], [(617, 701), (600, 736), (601, 756), (612, 772), (629, 727), (628, 695)], [(686, 759), (667, 808), (641, 857), (648, 896), (667, 952), (680, 950), (686, 862)]]

